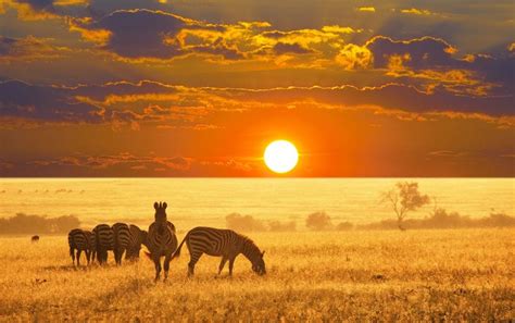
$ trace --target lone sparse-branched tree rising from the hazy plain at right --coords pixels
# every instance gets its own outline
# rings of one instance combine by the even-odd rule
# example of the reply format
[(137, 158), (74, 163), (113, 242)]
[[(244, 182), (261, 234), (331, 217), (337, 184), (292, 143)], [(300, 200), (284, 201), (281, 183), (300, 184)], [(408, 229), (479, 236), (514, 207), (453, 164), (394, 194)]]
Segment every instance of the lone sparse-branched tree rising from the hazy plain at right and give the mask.
[(429, 196), (418, 191), (416, 182), (399, 182), (395, 186), (382, 194), (381, 202), (389, 203), (397, 215), (397, 224), (401, 231), (404, 231), (402, 222), (410, 211), (416, 211), (429, 203)]

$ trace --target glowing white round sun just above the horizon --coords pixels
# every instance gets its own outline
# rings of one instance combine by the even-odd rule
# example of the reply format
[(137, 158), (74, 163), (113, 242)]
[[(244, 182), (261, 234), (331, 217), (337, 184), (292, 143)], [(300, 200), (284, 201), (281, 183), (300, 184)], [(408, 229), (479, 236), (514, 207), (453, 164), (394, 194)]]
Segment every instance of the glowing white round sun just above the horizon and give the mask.
[(276, 140), (266, 147), (264, 159), (268, 169), (282, 174), (293, 170), (299, 161), (299, 152), (290, 141)]

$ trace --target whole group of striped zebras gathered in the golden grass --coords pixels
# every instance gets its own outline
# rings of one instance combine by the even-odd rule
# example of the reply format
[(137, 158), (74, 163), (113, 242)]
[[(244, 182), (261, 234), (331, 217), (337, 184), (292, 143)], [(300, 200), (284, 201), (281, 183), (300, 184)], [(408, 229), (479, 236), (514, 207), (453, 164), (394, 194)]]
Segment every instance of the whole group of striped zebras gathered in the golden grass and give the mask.
[[(229, 275), (233, 275), (235, 259), (243, 254), (251, 263), (252, 271), (259, 275), (266, 273), (263, 260), (264, 251), (249, 237), (240, 235), (231, 229), (219, 229), (214, 227), (194, 227), (189, 231), (177, 248), (177, 236), (175, 225), (167, 221), (166, 202), (154, 203), (154, 222), (150, 224), (149, 231), (140, 229), (138, 226), (125, 223), (99, 224), (91, 232), (74, 228), (68, 233), (70, 256), (75, 265), (80, 265), (80, 254), (86, 253), (88, 264), (95, 262), (100, 264), (108, 261), (108, 251), (113, 251), (117, 265), (125, 260), (135, 261), (139, 259), (141, 246), (147, 247), (145, 253), (154, 262), (155, 281), (160, 279), (161, 271), (164, 269), (164, 279), (168, 277), (169, 262), (180, 256), (180, 249), (186, 244), (190, 261), (188, 263), (188, 275), (194, 273), (194, 265), (203, 253), (222, 257), (218, 266), (218, 275), (229, 262)], [(163, 266), (161, 258), (164, 257)]]

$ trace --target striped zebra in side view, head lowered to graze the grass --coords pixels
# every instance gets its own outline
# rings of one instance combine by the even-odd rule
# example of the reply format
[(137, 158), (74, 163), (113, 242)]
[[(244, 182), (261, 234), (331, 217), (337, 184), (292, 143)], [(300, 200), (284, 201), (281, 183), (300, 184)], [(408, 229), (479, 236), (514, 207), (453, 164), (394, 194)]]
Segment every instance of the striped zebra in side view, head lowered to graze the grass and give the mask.
[(188, 263), (188, 275), (193, 275), (194, 264), (203, 253), (222, 257), (218, 266), (218, 275), (225, 263), (229, 261), (229, 275), (233, 275), (233, 266), (238, 254), (242, 253), (252, 263), (252, 270), (260, 274), (266, 274), (265, 262), (260, 248), (250, 238), (231, 229), (198, 226), (188, 232), (172, 258), (179, 257), (180, 248), (186, 241), (190, 261)]

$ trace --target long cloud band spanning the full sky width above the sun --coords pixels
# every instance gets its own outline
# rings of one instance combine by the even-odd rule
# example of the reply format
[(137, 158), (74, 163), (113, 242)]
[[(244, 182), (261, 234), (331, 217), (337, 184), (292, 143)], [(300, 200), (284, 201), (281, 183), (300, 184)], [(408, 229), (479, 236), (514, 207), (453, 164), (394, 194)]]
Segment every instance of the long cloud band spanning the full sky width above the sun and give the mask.
[[(287, 87), (269, 89), (171, 86), (155, 82), (121, 82), (99, 86), (35, 86), (0, 83), (0, 119), (53, 123), (112, 124), (139, 129), (216, 129), (206, 117), (221, 112), (311, 104), (319, 109), (377, 109), (424, 115), (475, 117), (513, 125), (513, 96), (463, 96), (443, 86), (423, 91), (403, 84), (377, 87)], [(397, 113), (397, 112), (395, 112)], [(403, 116), (404, 117), (404, 116)]]

